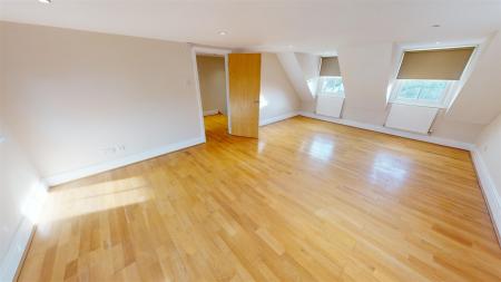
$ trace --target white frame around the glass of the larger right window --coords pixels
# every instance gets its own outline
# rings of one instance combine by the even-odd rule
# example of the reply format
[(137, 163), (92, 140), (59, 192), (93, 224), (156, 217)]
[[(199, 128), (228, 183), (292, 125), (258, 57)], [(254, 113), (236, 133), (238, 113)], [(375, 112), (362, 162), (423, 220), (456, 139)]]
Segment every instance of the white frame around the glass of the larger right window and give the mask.
[(393, 85), (392, 94), (390, 97), (390, 103), (403, 104), (403, 105), (410, 105), (410, 106), (446, 108), (448, 103), (450, 100), (450, 96), (452, 94), (452, 89), (454, 89), (454, 86), (456, 84), (456, 80), (441, 80), (441, 81), (448, 81), (448, 86), (443, 90), (441, 99), (439, 101), (428, 101), (428, 100), (419, 100), (419, 99), (399, 98), (399, 93), (402, 89), (405, 80), (433, 80), (433, 79), (395, 79), (395, 84)]

